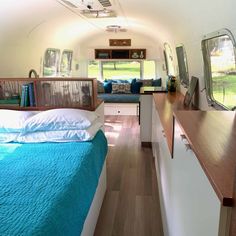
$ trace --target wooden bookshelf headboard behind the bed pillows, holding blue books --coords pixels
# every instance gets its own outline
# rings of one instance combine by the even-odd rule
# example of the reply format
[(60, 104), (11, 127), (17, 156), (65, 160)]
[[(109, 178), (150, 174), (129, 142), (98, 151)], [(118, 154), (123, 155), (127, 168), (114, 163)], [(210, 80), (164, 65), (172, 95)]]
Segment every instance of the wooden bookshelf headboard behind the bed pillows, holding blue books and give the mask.
[[(31, 86), (31, 92), (25, 91), (27, 86)], [(19, 103), (12, 104), (15, 97)], [(6, 101), (0, 104), (0, 109), (14, 110), (62, 107), (95, 110), (99, 104), (95, 78), (0, 78), (0, 99), (2, 103)]]

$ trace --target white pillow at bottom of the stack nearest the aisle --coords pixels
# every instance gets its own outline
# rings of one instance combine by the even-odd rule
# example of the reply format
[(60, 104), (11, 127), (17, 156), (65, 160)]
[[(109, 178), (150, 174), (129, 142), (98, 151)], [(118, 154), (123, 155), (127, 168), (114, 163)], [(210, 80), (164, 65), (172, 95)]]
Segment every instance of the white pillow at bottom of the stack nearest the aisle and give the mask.
[(102, 124), (96, 122), (86, 130), (56, 130), (25, 133), (20, 134), (15, 141), (20, 143), (88, 141), (93, 139), (101, 127)]

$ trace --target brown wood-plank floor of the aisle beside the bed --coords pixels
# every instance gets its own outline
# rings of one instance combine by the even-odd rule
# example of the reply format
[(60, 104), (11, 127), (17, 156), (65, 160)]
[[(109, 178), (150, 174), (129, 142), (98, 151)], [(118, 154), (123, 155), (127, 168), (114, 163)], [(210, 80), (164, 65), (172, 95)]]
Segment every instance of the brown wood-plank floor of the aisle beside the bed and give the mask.
[(141, 148), (135, 116), (106, 116), (107, 192), (95, 230), (99, 236), (163, 235), (150, 148)]

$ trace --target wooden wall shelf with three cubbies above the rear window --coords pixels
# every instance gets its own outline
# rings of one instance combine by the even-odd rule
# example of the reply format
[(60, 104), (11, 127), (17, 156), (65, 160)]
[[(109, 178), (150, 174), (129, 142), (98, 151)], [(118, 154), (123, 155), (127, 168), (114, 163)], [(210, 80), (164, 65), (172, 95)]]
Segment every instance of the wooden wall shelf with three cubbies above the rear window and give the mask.
[(146, 49), (95, 49), (95, 59), (146, 59)]

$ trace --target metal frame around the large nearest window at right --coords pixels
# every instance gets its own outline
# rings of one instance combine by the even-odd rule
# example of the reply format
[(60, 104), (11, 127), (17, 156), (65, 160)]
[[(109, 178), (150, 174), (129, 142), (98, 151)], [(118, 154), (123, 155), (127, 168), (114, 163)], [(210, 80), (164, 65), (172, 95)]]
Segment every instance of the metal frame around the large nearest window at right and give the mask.
[[(232, 45), (233, 45), (235, 64), (236, 64), (236, 42), (235, 42), (234, 36), (230, 30), (221, 29), (221, 30), (204, 35), (202, 42), (201, 42), (202, 56), (203, 56), (203, 62), (204, 62), (204, 81), (205, 81), (206, 97), (207, 97), (208, 104), (210, 106), (216, 108), (217, 110), (229, 110), (223, 104), (217, 102), (217, 100), (215, 100), (213, 97), (211, 61), (210, 61), (210, 57), (208, 55), (208, 50), (207, 50), (207, 47), (205, 44), (205, 42), (207, 40), (221, 37), (221, 36), (228, 36), (230, 38)], [(235, 68), (236, 68), (236, 65), (235, 65)]]

